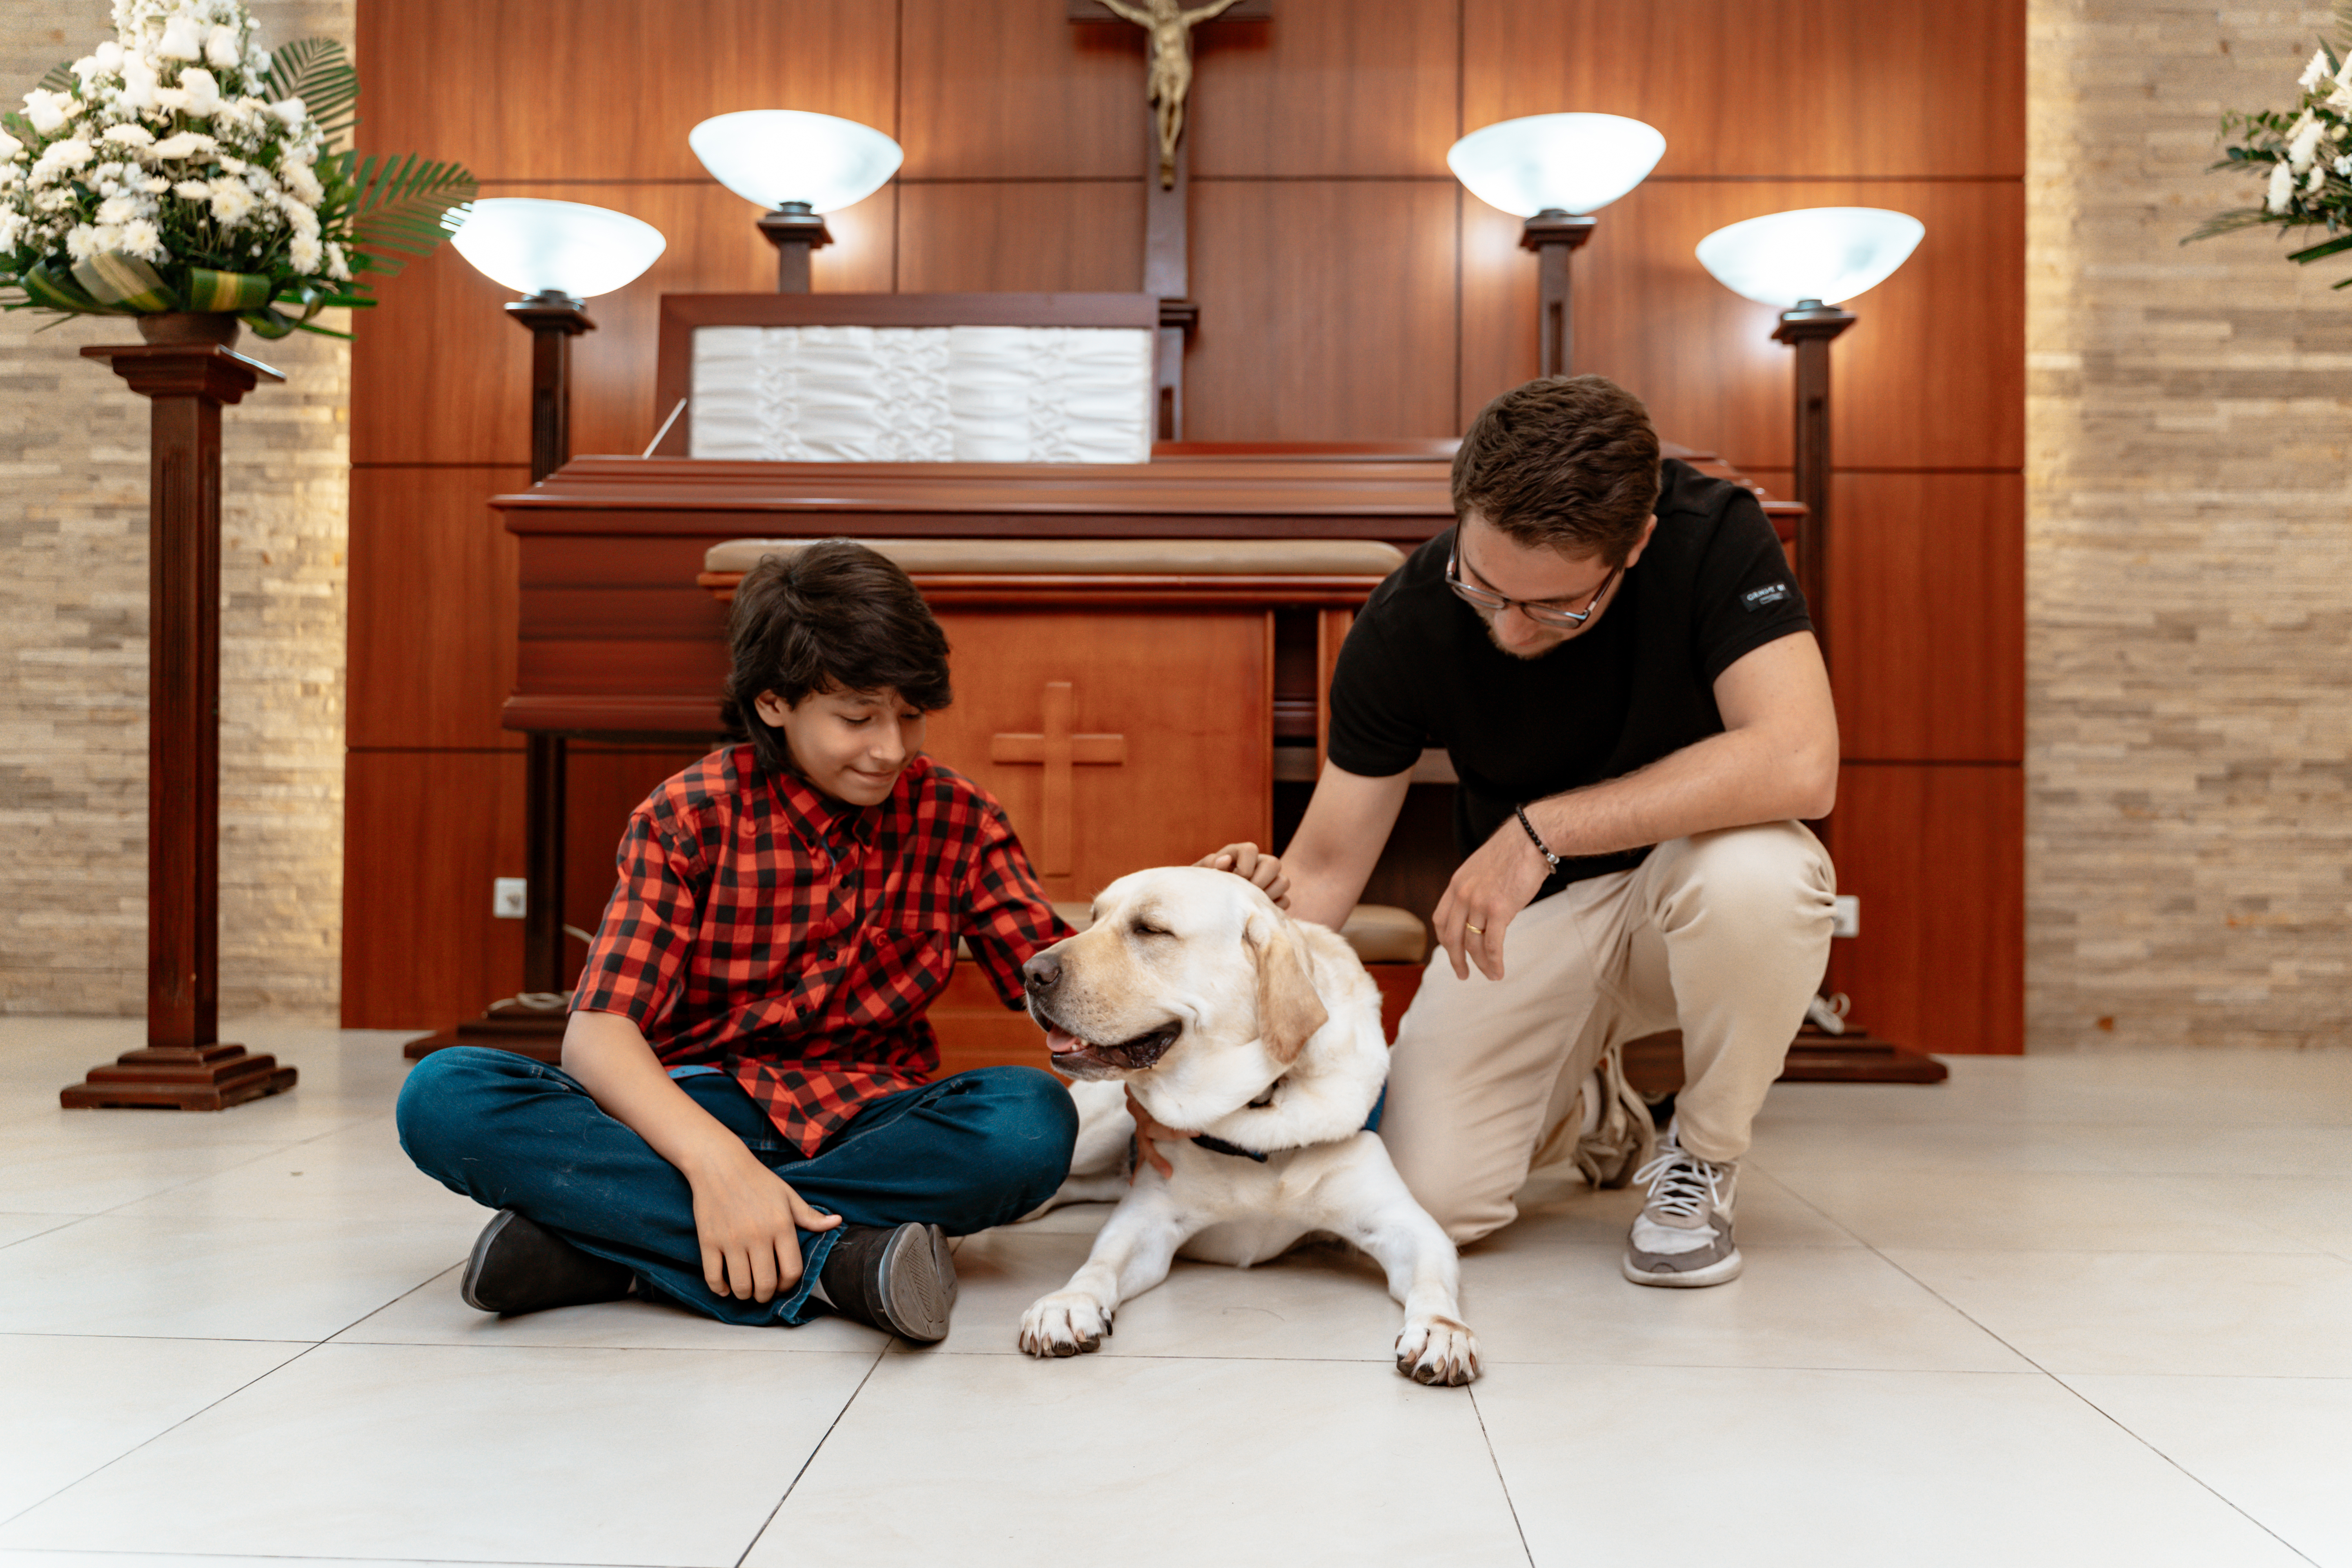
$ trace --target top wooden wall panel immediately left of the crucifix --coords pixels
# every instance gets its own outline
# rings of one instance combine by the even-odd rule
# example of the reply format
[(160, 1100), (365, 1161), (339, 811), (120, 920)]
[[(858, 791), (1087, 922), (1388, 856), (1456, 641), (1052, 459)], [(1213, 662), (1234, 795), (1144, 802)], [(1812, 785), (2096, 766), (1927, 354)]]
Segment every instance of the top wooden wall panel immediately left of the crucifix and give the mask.
[(1143, 28), (1073, 24), (1063, 0), (903, 0), (898, 14), (903, 179), (1141, 172)]

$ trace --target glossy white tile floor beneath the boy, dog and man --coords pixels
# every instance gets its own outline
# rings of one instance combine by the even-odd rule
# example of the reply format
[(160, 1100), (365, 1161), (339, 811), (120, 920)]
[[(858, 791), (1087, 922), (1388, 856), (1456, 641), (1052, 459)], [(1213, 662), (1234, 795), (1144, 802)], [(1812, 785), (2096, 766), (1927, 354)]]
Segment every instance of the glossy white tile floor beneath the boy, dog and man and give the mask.
[(1642, 1291), (1630, 1194), (1465, 1255), (1470, 1392), (1348, 1255), (1178, 1265), (1098, 1356), (1014, 1321), (1101, 1208), (971, 1237), (955, 1335), (456, 1300), (485, 1218), (400, 1157), (393, 1034), (301, 1086), (59, 1112), (136, 1044), (0, 1020), (0, 1568), (2338, 1563), (2352, 1053), (1959, 1060), (1783, 1086), (1748, 1276)]

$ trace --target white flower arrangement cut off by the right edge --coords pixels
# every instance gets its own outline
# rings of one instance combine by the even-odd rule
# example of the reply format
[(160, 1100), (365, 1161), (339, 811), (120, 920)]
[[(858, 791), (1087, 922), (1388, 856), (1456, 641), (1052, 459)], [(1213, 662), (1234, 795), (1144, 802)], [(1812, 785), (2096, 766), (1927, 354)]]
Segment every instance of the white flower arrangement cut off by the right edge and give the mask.
[[(2336, 19), (2352, 33), (2347, 0), (2338, 0)], [(2352, 54), (2338, 56), (2321, 40), (2296, 85), (2303, 99), (2293, 110), (2223, 115), (2223, 136), (2237, 141), (2225, 141), (2213, 167), (2260, 172), (2263, 202), (2213, 214), (2183, 244), (2239, 228), (2326, 228), (2326, 240), (2286, 259), (2312, 263), (2352, 249)], [(2336, 287), (2352, 287), (2352, 277)]]

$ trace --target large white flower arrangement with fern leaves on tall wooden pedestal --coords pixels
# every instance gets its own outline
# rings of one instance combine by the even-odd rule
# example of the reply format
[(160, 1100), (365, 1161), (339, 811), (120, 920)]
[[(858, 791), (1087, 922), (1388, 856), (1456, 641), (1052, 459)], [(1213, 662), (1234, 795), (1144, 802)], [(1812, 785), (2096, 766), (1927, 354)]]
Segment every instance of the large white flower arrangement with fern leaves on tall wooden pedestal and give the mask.
[(0, 306), (223, 310), (278, 339), (376, 303), (365, 275), (456, 233), (475, 186), (332, 150), (358, 96), (339, 42), (268, 52), (242, 0), (115, 0), (115, 38), (0, 115)]

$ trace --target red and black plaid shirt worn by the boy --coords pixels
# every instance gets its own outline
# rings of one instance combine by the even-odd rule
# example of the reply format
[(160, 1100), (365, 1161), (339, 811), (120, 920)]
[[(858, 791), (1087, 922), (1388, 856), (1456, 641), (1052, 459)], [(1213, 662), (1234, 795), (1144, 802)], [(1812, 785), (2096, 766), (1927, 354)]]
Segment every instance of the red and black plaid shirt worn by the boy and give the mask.
[(802, 1154), (938, 1072), (922, 1013), (957, 938), (1021, 1006), (1021, 961), (1068, 933), (1004, 809), (929, 757), (856, 809), (710, 752), (628, 818), (619, 870), (574, 1011), (731, 1074)]

